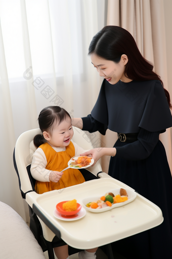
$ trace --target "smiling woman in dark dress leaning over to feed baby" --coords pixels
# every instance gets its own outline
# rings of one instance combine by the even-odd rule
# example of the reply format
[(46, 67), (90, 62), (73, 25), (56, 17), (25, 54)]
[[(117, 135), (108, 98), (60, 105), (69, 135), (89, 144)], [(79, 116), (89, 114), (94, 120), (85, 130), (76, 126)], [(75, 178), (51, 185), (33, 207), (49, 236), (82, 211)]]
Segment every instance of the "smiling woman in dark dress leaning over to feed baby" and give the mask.
[(126, 258), (172, 258), (172, 179), (159, 141), (159, 134), (172, 126), (169, 93), (132, 35), (121, 27), (105, 26), (99, 31), (89, 55), (104, 81), (91, 114), (74, 118), (73, 125), (103, 135), (109, 128), (118, 133), (118, 140), (113, 148), (84, 154), (91, 153), (95, 163), (111, 155), (109, 175), (159, 206), (164, 217), (156, 228), (112, 247)]

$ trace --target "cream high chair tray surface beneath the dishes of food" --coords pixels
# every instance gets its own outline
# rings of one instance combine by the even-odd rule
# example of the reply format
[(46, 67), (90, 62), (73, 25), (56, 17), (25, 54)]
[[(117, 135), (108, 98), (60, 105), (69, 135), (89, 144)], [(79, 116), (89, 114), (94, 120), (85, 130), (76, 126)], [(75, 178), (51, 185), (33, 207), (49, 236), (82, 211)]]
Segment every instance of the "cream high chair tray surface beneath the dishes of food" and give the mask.
[(163, 221), (160, 208), (138, 193), (134, 201), (124, 206), (102, 213), (87, 210), (85, 216), (78, 220), (63, 221), (54, 216), (56, 205), (61, 201), (76, 199), (77, 203), (82, 205), (85, 198), (102, 196), (108, 189), (121, 187), (132, 189), (114, 178), (105, 176), (42, 195), (29, 192), (26, 201), (68, 245), (78, 249), (91, 249), (154, 228)]

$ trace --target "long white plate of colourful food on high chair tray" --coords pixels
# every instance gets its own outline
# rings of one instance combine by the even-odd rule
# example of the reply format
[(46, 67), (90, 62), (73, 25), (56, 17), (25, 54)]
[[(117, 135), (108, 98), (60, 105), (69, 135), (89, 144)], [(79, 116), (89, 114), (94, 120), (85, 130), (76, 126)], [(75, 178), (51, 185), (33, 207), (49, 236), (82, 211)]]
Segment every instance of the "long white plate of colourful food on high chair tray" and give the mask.
[(87, 209), (88, 211), (100, 213), (124, 206), (134, 201), (136, 197), (137, 193), (131, 189), (110, 189), (107, 190), (105, 193), (102, 193), (102, 196), (83, 199), (82, 207)]

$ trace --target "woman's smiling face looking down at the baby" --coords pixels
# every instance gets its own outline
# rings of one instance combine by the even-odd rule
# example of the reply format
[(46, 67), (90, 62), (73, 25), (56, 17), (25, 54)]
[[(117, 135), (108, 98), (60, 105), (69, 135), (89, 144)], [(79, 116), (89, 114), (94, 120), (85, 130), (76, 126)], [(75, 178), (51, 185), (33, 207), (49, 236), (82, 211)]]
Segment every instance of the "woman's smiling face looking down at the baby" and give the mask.
[(131, 79), (125, 77), (125, 64), (128, 58), (125, 54), (121, 55), (121, 59), (118, 63), (114, 61), (107, 60), (97, 56), (96, 54), (91, 54), (91, 60), (94, 67), (101, 77), (104, 77), (110, 84), (116, 84), (119, 80), (128, 83)]

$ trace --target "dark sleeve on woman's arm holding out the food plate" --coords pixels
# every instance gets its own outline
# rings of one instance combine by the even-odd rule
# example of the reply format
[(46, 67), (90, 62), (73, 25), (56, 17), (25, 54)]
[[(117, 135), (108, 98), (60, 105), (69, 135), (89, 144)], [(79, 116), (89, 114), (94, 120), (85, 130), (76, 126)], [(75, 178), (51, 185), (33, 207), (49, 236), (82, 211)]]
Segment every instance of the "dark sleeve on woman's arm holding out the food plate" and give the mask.
[(159, 132), (149, 132), (141, 128), (138, 134), (138, 140), (116, 147), (116, 157), (127, 160), (142, 160), (147, 158), (153, 151), (159, 140)]

